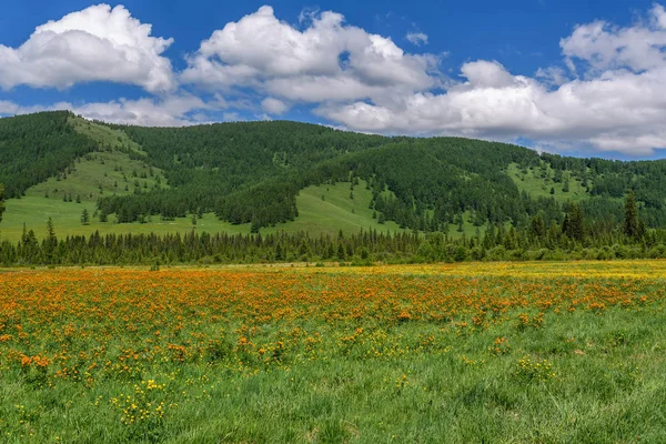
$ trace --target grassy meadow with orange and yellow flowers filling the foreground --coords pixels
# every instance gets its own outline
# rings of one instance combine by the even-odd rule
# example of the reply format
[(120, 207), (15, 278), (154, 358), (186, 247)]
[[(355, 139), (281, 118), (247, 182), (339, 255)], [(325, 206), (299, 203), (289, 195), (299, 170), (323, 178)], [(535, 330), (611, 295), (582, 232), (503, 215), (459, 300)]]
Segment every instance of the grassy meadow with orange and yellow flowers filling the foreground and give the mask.
[(666, 262), (0, 272), (0, 441), (663, 442)]

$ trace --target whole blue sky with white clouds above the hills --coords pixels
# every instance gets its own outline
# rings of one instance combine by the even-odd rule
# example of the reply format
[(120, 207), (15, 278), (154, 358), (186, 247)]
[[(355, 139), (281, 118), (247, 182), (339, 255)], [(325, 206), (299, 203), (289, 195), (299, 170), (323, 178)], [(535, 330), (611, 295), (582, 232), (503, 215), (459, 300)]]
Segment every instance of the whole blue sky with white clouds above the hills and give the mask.
[(638, 0), (6, 2), (0, 114), (293, 119), (655, 159), (665, 49), (666, 11)]

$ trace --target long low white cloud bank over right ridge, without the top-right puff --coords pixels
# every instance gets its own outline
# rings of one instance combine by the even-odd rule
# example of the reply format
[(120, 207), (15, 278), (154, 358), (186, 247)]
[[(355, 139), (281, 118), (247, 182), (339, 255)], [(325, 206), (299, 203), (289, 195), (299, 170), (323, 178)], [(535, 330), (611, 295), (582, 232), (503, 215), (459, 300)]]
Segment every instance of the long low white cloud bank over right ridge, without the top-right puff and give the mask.
[(417, 92), (401, 107), (356, 102), (325, 104), (317, 112), (362, 131), (575, 141), (581, 149), (592, 145), (639, 155), (666, 147), (666, 69), (608, 72), (551, 91), (535, 79), (504, 69), (492, 81), (484, 70), (480, 74), (480, 65), (468, 64), (462, 71), (472, 78), (446, 93)]

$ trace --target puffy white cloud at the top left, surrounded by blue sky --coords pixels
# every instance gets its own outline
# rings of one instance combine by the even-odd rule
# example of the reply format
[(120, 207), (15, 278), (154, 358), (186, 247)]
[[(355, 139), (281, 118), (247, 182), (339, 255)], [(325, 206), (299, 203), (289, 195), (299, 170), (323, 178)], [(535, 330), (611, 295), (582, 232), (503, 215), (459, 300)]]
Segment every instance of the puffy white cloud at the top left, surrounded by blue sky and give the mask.
[(151, 26), (122, 6), (92, 6), (38, 27), (19, 48), (0, 44), (0, 87), (111, 81), (171, 91), (171, 61), (161, 54), (172, 42), (151, 37)]

